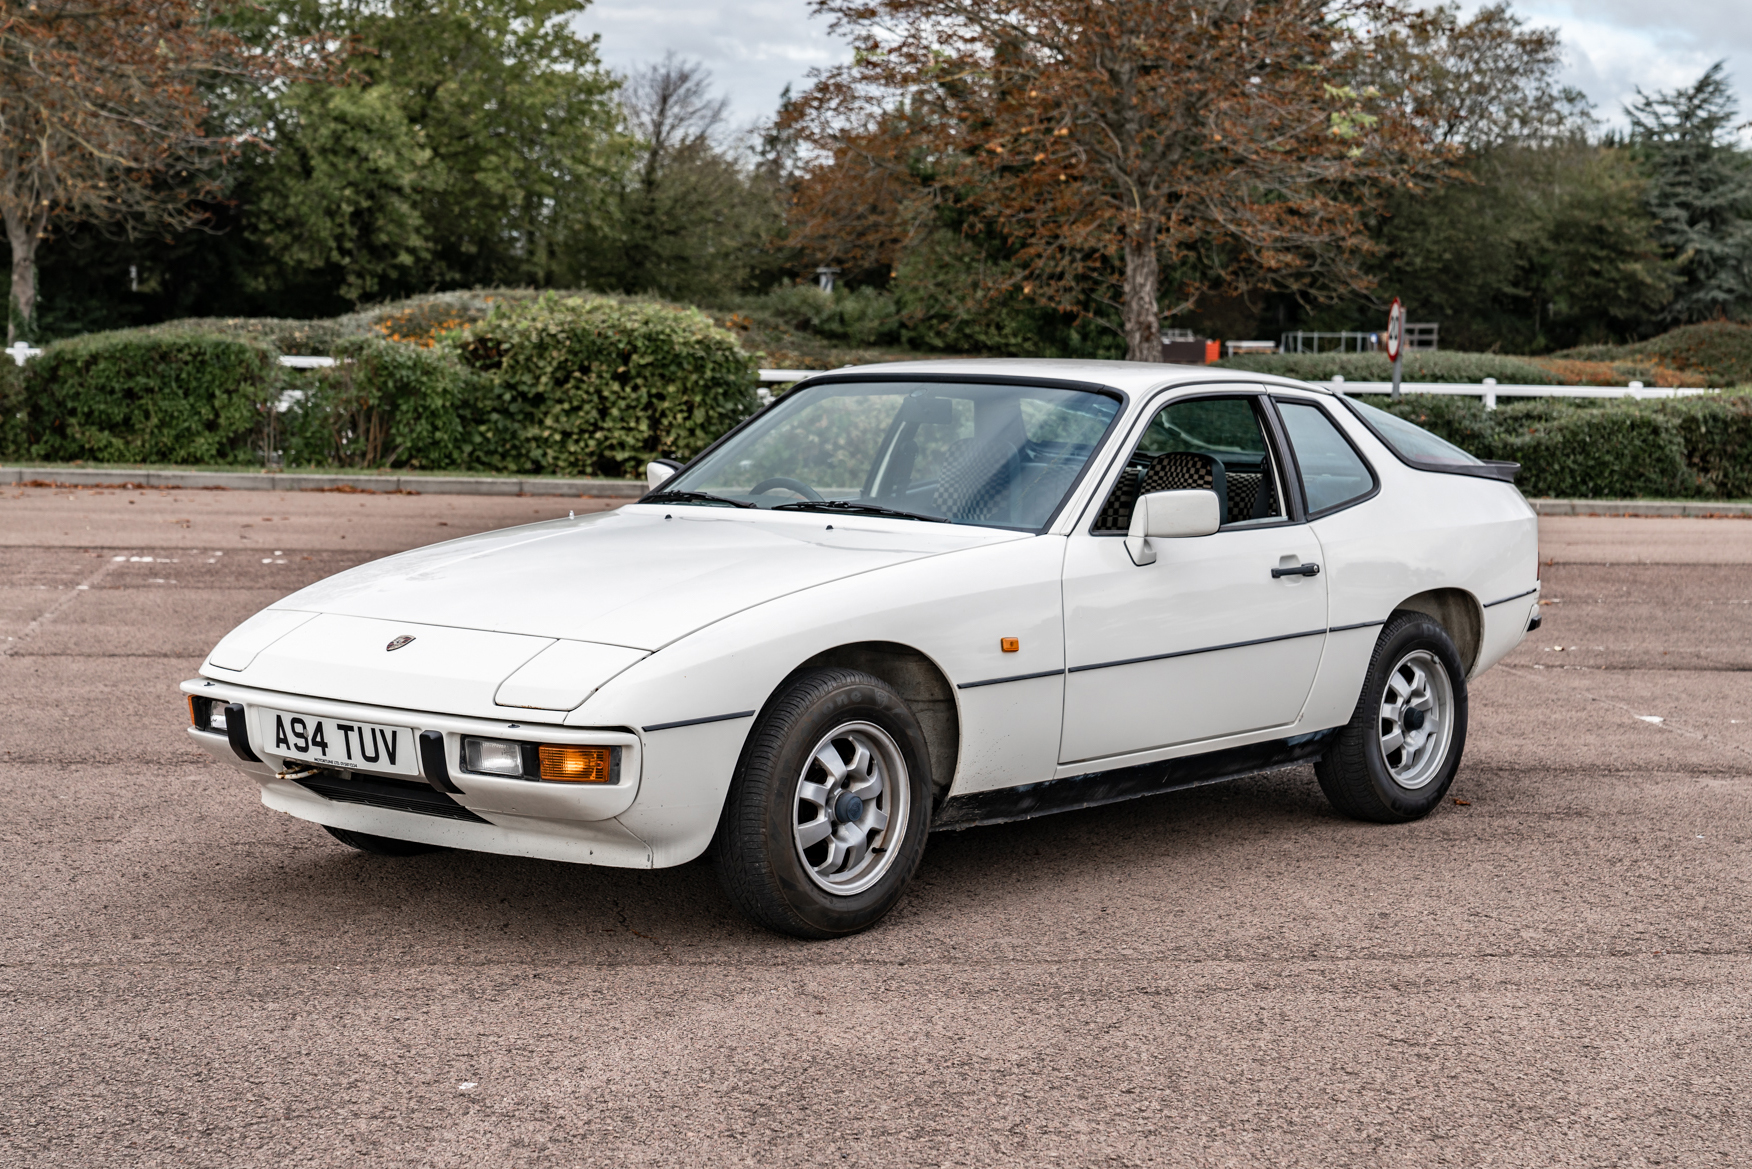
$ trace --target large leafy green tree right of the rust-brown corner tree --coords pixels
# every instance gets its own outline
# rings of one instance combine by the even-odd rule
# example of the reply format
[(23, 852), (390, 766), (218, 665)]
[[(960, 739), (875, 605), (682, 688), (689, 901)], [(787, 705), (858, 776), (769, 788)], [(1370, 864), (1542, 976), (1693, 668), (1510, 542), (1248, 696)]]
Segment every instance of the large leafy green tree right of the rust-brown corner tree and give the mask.
[(349, 300), (545, 284), (608, 209), (625, 156), (587, 0), (282, 0), (272, 35), (343, 47), (340, 93), (277, 103), (268, 166), (238, 196), (287, 280)]

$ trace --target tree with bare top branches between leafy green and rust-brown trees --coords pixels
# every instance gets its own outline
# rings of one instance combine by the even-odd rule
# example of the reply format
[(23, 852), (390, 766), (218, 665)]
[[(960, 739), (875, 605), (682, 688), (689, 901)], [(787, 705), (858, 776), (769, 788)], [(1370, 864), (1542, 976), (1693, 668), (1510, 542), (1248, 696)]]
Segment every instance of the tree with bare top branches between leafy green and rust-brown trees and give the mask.
[(620, 91), (634, 147), (613, 182), (613, 223), (585, 247), (587, 282), (713, 298), (736, 291), (778, 228), (773, 177), (729, 140), (727, 100), (671, 53)]

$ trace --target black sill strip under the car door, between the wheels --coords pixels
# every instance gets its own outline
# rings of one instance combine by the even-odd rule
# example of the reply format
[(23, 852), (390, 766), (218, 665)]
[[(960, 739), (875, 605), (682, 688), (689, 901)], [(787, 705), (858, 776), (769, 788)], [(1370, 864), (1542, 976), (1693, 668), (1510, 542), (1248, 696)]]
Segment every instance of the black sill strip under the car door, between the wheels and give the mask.
[(1223, 780), (1258, 775), (1260, 771), (1275, 771), (1277, 768), (1289, 768), (1318, 757), (1326, 750), (1326, 740), (1335, 733), (1337, 727), (1332, 727), (1270, 743), (1230, 747), (1205, 755), (1146, 762), (1137, 768), (1120, 768), (1116, 771), (1090, 771), (1088, 775), (1027, 783), (1023, 787), (1004, 787), (993, 792), (951, 796), (937, 810), (937, 815), (930, 818), (930, 831), (958, 831), (981, 824), (1004, 824), (1007, 820), (1027, 820), (1055, 811), (1072, 811), (1076, 808), (1099, 808), (1100, 804), (1114, 804), (1121, 799), (1137, 799), (1139, 796), (1156, 796), (1184, 787), (1221, 783)]

